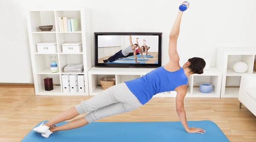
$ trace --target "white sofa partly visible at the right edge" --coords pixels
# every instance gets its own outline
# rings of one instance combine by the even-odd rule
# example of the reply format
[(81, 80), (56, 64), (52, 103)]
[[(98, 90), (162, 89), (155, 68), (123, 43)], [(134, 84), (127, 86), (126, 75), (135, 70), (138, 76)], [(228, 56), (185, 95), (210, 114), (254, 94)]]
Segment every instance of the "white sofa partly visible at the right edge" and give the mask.
[(239, 108), (243, 104), (256, 116), (256, 74), (243, 74), (239, 88)]

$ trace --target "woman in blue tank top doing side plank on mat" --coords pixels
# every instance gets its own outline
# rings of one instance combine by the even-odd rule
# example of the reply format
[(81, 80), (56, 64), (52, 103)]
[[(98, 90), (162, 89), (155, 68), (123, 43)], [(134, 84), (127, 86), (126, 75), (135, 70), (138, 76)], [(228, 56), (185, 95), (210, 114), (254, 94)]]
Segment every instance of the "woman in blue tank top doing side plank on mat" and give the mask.
[[(187, 5), (187, 3), (184, 4)], [(189, 6), (187, 5), (187, 7)], [(183, 11), (178, 12), (175, 23), (169, 34), (169, 62), (165, 66), (156, 68), (138, 79), (108, 88), (101, 94), (62, 112), (49, 122), (42, 123), (33, 130), (37, 133), (42, 133), (41, 135), (47, 138), (56, 131), (79, 128), (106, 116), (134, 110), (144, 105), (157, 93), (176, 91), (176, 111), (185, 131), (188, 133), (205, 132), (201, 128), (189, 128), (186, 120), (183, 99), (187, 93), (187, 77), (191, 74), (202, 74), (205, 62), (201, 58), (194, 57), (189, 59), (182, 68), (179, 65), (180, 58), (176, 46), (182, 14)], [(140, 89), (142, 84), (149, 89)], [(83, 113), (88, 114), (64, 125), (54, 125), (73, 119)]]

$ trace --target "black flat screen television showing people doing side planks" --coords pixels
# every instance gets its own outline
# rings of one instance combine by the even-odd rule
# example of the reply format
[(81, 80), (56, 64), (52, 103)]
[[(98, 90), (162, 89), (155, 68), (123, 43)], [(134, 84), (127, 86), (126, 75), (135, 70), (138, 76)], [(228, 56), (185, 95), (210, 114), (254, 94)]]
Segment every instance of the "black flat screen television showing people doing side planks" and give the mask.
[[(135, 62), (134, 54), (109, 61), (109, 57), (124, 51), (130, 46), (130, 35), (133, 44), (141, 47), (137, 50)], [(145, 42), (144, 42), (145, 40)], [(161, 66), (162, 33), (158, 32), (95, 32), (95, 66), (113, 68), (157, 68)], [(145, 48), (143, 48), (143, 46)], [(149, 47), (149, 48), (148, 48)], [(137, 49), (137, 48), (136, 48)], [(148, 50), (147, 50), (148, 49)], [(120, 51), (122, 50), (122, 51)], [(136, 50), (135, 50), (136, 51)], [(144, 59), (143, 59), (144, 57)], [(105, 62), (104, 62), (105, 60)]]

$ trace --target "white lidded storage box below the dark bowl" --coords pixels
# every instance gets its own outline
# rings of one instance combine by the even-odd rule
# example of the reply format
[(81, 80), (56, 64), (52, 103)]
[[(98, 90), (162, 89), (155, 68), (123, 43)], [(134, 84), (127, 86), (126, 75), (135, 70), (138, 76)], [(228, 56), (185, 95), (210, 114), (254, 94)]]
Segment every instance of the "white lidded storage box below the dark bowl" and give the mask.
[(41, 42), (37, 43), (38, 53), (56, 53), (57, 44), (56, 42)]

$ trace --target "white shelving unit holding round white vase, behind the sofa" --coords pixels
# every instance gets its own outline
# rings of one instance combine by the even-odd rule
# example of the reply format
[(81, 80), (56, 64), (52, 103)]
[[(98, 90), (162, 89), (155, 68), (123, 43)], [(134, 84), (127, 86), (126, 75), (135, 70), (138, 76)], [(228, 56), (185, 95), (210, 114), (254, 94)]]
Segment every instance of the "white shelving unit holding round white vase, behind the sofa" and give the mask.
[[(238, 97), (241, 76), (255, 74), (253, 63), (256, 59), (256, 48), (218, 48), (217, 68), (222, 71), (221, 97)], [(236, 73), (233, 65), (236, 62), (246, 62), (248, 70), (245, 73)]]

